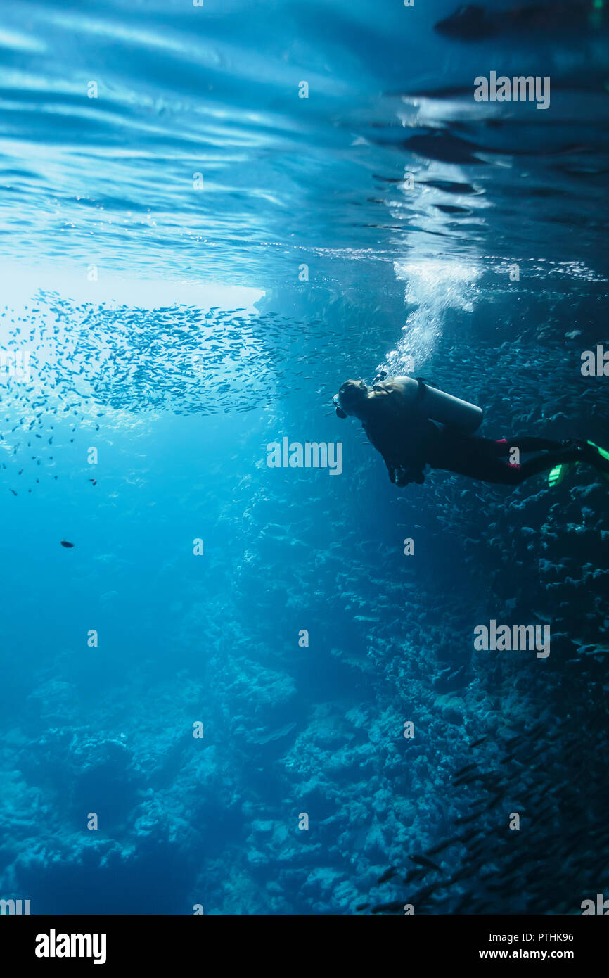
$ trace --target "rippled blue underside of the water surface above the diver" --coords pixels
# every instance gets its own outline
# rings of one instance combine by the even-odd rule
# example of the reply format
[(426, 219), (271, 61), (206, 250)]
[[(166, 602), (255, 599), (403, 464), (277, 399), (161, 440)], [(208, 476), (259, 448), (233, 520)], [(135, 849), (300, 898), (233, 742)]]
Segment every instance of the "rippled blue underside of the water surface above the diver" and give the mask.
[[(307, 257), (591, 258), (606, 32), (466, 43), (433, 30), (452, 12), (5, 4), (11, 254), (250, 286)], [(476, 66), (550, 75), (551, 111), (474, 103)]]

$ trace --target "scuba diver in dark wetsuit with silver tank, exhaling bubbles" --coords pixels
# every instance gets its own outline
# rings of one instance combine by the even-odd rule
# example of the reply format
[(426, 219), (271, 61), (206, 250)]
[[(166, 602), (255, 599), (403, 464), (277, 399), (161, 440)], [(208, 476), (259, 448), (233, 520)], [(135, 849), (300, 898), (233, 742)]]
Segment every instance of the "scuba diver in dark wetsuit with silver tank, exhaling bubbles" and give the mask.
[[(346, 380), (333, 404), (339, 418), (351, 415), (362, 422), (385, 460), (390, 481), (398, 486), (422, 483), (425, 466), (510, 486), (550, 469), (552, 486), (574, 465), (586, 462), (609, 479), (609, 453), (593, 442), (529, 435), (483, 438), (473, 433), (482, 422), (481, 408), (420, 378), (387, 378), (383, 373), (370, 387), (364, 380)], [(522, 464), (508, 461), (519, 459), (521, 452), (538, 454)]]

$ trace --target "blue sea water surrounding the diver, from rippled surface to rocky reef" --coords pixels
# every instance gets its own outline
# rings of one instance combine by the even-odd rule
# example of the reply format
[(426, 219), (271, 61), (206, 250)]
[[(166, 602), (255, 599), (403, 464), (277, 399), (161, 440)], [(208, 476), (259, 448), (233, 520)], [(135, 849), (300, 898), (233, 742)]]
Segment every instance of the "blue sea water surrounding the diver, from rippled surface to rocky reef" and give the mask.
[[(0, 898), (607, 891), (605, 483), (397, 490), (331, 407), (408, 370), (490, 437), (609, 439), (603, 7), (487, 4), (472, 40), (435, 29), (456, 6), (3, 3)], [(474, 102), (491, 70), (549, 109)], [(342, 472), (268, 467), (283, 436)], [(475, 651), (490, 619), (551, 654)]]

